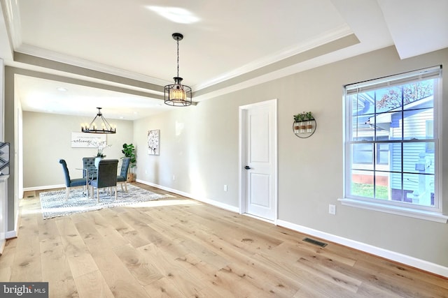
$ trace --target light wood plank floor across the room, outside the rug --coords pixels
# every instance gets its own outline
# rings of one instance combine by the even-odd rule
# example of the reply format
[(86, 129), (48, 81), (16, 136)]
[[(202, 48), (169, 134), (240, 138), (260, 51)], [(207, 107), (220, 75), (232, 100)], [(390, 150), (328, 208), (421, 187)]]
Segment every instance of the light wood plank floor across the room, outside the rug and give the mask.
[(0, 281), (48, 281), (57, 298), (448, 297), (447, 278), (174, 196), (43, 220), (25, 194)]

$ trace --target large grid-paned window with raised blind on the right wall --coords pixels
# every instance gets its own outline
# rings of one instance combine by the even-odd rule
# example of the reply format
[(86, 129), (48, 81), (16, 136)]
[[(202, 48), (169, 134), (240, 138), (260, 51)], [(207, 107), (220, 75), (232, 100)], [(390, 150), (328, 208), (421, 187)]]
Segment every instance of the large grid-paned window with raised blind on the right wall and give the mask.
[(441, 214), (440, 75), (437, 66), (345, 86), (344, 199)]

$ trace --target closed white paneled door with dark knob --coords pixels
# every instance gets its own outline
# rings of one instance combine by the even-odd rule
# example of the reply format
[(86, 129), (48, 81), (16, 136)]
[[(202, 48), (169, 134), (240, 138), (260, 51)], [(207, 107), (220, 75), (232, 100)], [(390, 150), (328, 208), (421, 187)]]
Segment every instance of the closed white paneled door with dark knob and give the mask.
[(240, 210), (276, 220), (276, 100), (240, 107)]

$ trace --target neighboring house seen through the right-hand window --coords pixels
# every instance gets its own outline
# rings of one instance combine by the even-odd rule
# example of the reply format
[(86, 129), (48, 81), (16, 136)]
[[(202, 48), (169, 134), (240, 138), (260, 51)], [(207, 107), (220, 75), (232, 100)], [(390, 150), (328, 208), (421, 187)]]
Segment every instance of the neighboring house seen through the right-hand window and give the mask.
[[(384, 186), (387, 193), (377, 191), (375, 198), (416, 202), (424, 206), (434, 204), (435, 156), (434, 142), (420, 142), (433, 138), (433, 95), (420, 98), (390, 110), (379, 107), (381, 91), (365, 92), (357, 96), (358, 107), (353, 117), (358, 121), (359, 141), (379, 141), (376, 148), (372, 143), (356, 144), (353, 149), (353, 181), (360, 184)], [(376, 105), (375, 105), (376, 103)], [(377, 110), (375, 110), (377, 109)], [(374, 116), (374, 113), (377, 116)], [(409, 140), (403, 144), (391, 140)], [(403, 158), (401, 164), (401, 155)], [(402, 167), (402, 170), (401, 170)], [(376, 170), (376, 177), (372, 170)], [(402, 177), (403, 175), (403, 177)], [(403, 185), (402, 185), (403, 184)], [(402, 191), (403, 190), (403, 191)]]

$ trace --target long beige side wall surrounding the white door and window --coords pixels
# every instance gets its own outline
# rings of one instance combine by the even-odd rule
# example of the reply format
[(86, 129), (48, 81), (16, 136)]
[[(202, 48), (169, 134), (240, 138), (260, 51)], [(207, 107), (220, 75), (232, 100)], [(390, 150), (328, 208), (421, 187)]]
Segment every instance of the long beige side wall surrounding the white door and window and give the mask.
[[(343, 195), (343, 85), (447, 63), (448, 49), (400, 60), (395, 47), (388, 47), (141, 119), (134, 124), (137, 179), (237, 208), (238, 107), (277, 98), (280, 221), (448, 267), (448, 224), (346, 207), (337, 201)], [(447, 75), (444, 81), (446, 101)], [(448, 105), (443, 109), (447, 116)], [(307, 139), (296, 137), (292, 128), (293, 114), (303, 111), (313, 112), (317, 121), (316, 133)], [(442, 118), (448, 127), (448, 117)], [(148, 156), (144, 150), (152, 129), (160, 129), (160, 156)], [(442, 140), (446, 148), (447, 130)], [(443, 174), (448, 214), (446, 156)], [(337, 205), (336, 216), (328, 214), (328, 204)]]

